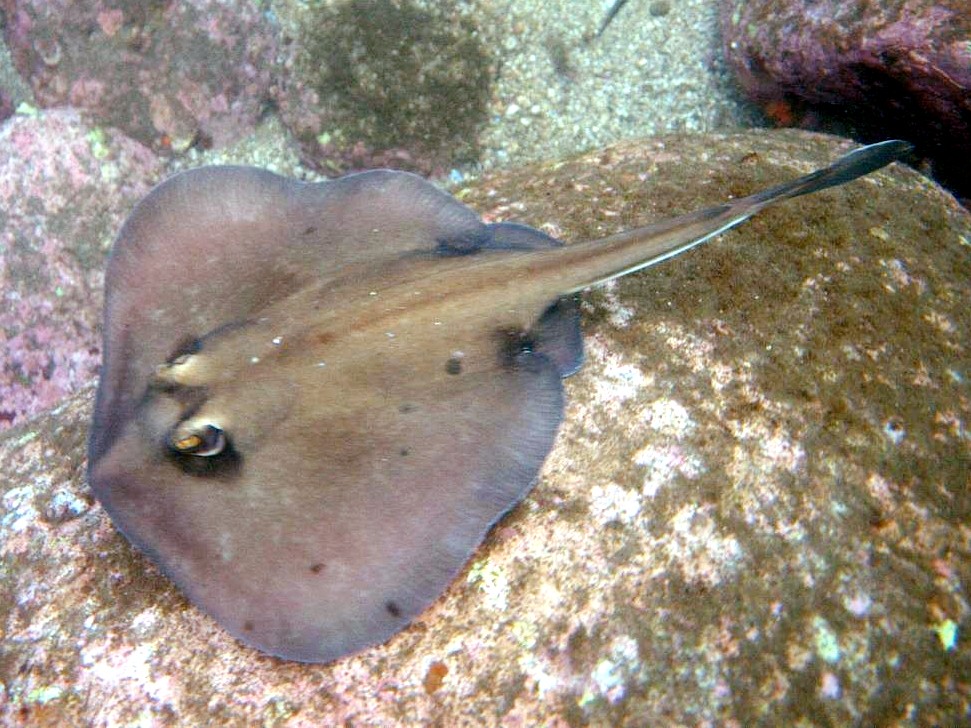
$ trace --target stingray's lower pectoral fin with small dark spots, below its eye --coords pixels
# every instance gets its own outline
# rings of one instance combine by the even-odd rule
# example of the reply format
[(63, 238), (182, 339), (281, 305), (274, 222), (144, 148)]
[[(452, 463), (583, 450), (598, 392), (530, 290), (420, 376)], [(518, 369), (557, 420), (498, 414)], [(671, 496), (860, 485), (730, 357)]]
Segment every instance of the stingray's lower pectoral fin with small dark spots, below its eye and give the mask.
[(306, 662), (380, 643), (437, 598), (528, 492), (563, 411), (556, 367), (529, 353), (332, 401), (314, 397), (224, 472), (180, 467), (190, 456), (137, 421), (91, 471), (115, 522), (195, 604)]

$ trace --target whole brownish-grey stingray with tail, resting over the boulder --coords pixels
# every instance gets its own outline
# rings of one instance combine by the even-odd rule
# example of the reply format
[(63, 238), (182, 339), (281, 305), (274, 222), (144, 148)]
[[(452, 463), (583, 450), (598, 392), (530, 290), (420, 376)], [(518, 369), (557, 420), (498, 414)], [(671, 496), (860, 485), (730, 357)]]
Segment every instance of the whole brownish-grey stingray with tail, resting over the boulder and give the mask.
[(434, 601), (529, 492), (583, 360), (576, 294), (906, 154), (563, 245), (412, 174), (177, 174), (111, 251), (89, 479), (232, 635), (327, 662)]

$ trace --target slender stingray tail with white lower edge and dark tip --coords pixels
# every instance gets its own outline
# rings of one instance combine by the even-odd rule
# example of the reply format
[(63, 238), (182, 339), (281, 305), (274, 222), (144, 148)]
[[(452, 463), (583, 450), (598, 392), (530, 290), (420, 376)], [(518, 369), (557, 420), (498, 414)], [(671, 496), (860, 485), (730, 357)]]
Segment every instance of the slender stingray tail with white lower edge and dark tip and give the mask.
[(628, 230), (588, 243), (570, 245), (558, 251), (564, 258), (575, 258), (577, 278), (561, 281), (559, 290), (580, 291), (628, 273), (648, 268), (741, 224), (765, 207), (782, 200), (845, 184), (906, 157), (913, 147), (891, 140), (855, 149), (824, 169), (770, 187), (723, 205)]

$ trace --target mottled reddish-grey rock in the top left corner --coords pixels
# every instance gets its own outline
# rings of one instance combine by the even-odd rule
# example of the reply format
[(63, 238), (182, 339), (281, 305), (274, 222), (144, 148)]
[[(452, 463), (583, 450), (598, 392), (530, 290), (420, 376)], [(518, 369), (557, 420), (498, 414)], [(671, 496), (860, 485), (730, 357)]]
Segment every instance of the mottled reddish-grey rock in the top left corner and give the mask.
[(159, 148), (221, 145), (269, 98), (276, 28), (245, 0), (2, 0), (5, 37), (42, 106), (69, 104)]

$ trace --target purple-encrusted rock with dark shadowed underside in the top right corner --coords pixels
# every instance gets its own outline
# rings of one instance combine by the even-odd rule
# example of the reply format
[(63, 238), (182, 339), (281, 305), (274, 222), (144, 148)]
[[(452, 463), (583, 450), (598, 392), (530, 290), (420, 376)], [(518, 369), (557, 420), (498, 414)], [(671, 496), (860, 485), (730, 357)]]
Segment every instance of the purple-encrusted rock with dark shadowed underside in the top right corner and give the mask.
[(721, 16), (729, 65), (770, 116), (910, 139), (971, 198), (967, 0), (725, 0)]

